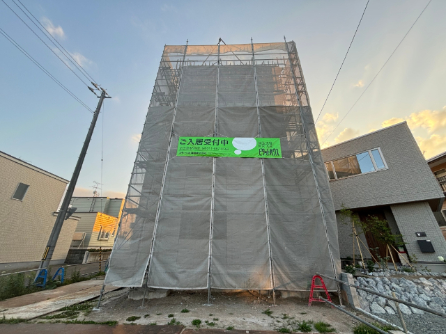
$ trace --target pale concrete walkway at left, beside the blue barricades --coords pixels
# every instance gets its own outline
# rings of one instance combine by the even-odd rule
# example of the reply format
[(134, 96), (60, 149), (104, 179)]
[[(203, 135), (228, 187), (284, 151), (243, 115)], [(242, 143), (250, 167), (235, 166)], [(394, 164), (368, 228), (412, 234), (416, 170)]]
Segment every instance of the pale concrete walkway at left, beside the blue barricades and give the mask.
[[(3, 317), (3, 315), (7, 319), (41, 317), (66, 306), (82, 303), (99, 296), (102, 283), (104, 283), (104, 280), (85, 280), (53, 290), (43, 290), (10, 298), (0, 302), (0, 317)], [(116, 289), (119, 288), (106, 286), (105, 292)]]

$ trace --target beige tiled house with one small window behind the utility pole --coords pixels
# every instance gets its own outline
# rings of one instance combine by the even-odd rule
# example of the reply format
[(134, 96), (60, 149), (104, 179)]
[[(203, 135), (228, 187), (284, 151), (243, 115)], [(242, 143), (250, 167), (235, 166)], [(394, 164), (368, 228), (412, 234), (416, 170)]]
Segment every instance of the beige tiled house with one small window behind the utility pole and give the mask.
[[(68, 180), (0, 151), (0, 271), (36, 267)], [(63, 224), (52, 264), (62, 264), (79, 218)]]

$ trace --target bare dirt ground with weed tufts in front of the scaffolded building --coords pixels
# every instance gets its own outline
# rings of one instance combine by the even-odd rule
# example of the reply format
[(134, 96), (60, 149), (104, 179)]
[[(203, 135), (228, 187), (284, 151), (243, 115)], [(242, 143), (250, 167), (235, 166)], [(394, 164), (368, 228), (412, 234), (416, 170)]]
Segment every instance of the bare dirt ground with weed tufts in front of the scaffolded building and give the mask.
[[(164, 325), (172, 320), (169, 314), (174, 315), (174, 322), (179, 321), (186, 327), (193, 328), (192, 320), (200, 319), (201, 328), (227, 328), (243, 330), (275, 331), (282, 327), (293, 328), (296, 321), (325, 321), (337, 333), (353, 333), (353, 327), (358, 321), (343, 312), (330, 308), (325, 303), (313, 303), (309, 308), (307, 300), (289, 298), (276, 299), (272, 305), (272, 296), (264, 296), (257, 292), (213, 292), (212, 305), (207, 305), (207, 292), (172, 291), (169, 296), (162, 299), (146, 300), (141, 308), (142, 301), (128, 299), (128, 289), (109, 292), (102, 299), (101, 310), (80, 315), (78, 320), (109, 321), (115, 320), (119, 324), (129, 324), (126, 319), (131, 316), (141, 317), (133, 321), (135, 324)], [(337, 301), (334, 303), (339, 304)], [(270, 309), (267, 315), (263, 311)], [(187, 309), (190, 312), (181, 312)], [(56, 313), (56, 312), (55, 312)], [(363, 315), (360, 315), (363, 319)], [(146, 316), (146, 317), (144, 317)], [(371, 319), (367, 319), (371, 321)], [(37, 321), (51, 321), (36, 319)], [(208, 321), (206, 324), (205, 321)], [(213, 323), (215, 324), (212, 326)], [(178, 324), (178, 323), (177, 323)], [(295, 327), (295, 326), (294, 326)], [(317, 333), (314, 330), (312, 333)]]

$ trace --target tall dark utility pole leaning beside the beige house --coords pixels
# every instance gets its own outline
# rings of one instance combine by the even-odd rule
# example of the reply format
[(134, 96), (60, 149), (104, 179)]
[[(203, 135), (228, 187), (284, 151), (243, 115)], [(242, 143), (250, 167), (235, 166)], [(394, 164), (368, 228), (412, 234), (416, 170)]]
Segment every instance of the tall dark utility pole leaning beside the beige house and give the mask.
[[(93, 90), (91, 90), (91, 91), (93, 91)], [(93, 93), (94, 93), (94, 91), (93, 91)], [(72, 193), (75, 191), (75, 186), (77, 184), (77, 179), (79, 178), (79, 174), (82, 169), (82, 164), (84, 164), (86, 151), (89, 148), (91, 136), (93, 135), (93, 130), (95, 129), (96, 121), (98, 120), (100, 109), (102, 107), (102, 102), (104, 102), (104, 99), (111, 98), (110, 96), (106, 96), (106, 95), (108, 95), (107, 92), (105, 92), (105, 90), (102, 89), (101, 95), (98, 96), (99, 102), (98, 102), (98, 106), (96, 107), (95, 112), (93, 113), (93, 120), (91, 120), (89, 132), (86, 134), (86, 138), (84, 141), (84, 145), (82, 146), (81, 154), (79, 155), (79, 158), (77, 159), (75, 171), (72, 173), (70, 184), (68, 184), (68, 189), (65, 194), (65, 197), (63, 198), (61, 209), (59, 210), (59, 214), (57, 215), (56, 222), (54, 223), (54, 226), (53, 226), (53, 230), (51, 231), (51, 234), (49, 235), (48, 244), (43, 252), (42, 261), (40, 262), (39, 269), (49, 267), (49, 262), (51, 261), (52, 255), (54, 253), (54, 248), (56, 248), (57, 239), (59, 239), (59, 234), (61, 233), (63, 221), (65, 221), (68, 218), (68, 216), (70, 216), (72, 214), (71, 210), (68, 211), (68, 207), (70, 205)], [(67, 216), (67, 212), (68, 212), (68, 216)], [(37, 278), (37, 276), (36, 276), (36, 278)]]

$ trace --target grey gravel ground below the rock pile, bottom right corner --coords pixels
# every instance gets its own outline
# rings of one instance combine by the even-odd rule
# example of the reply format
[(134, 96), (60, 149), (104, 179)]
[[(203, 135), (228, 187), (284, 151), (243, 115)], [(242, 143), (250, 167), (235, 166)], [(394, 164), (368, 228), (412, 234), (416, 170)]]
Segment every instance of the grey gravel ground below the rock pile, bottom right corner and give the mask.
[[(401, 322), (397, 315), (379, 315), (379, 317), (401, 327)], [(415, 334), (445, 334), (446, 319), (431, 315), (427, 312), (424, 315), (403, 315), (408, 331)]]

